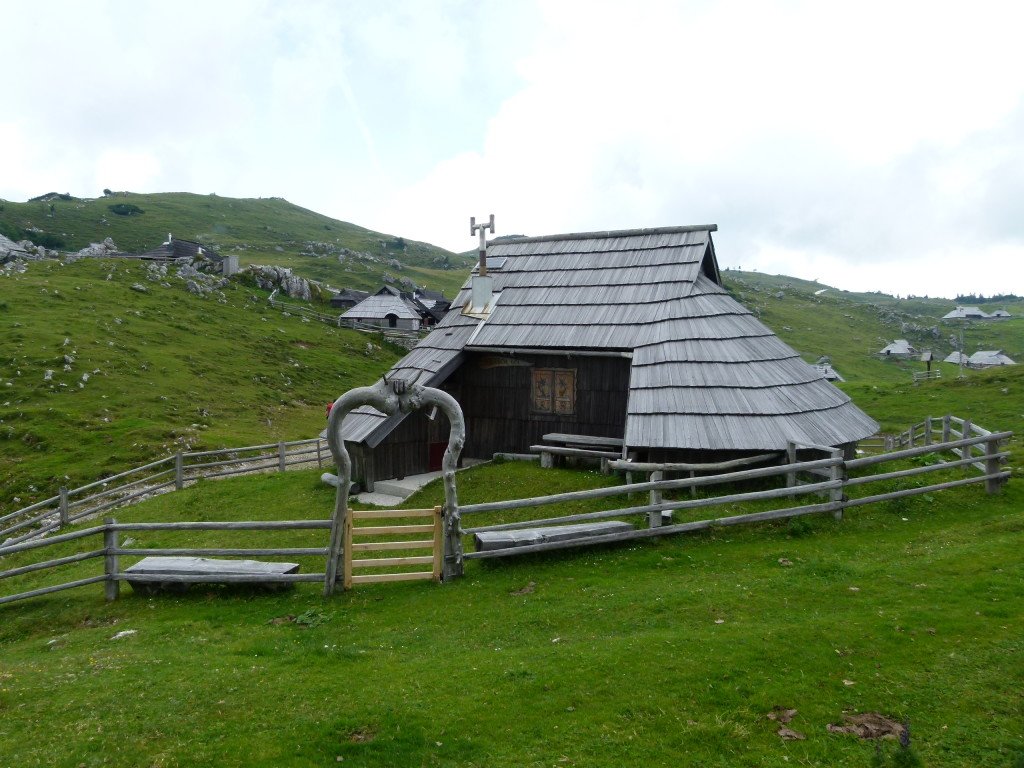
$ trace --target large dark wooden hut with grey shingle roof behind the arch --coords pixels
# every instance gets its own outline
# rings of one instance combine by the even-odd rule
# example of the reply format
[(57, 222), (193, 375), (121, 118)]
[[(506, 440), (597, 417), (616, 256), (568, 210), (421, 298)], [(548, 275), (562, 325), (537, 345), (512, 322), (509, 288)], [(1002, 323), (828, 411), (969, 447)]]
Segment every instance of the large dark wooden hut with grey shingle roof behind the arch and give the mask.
[[(388, 374), (461, 403), (466, 457), (546, 433), (613, 437), (650, 461), (848, 446), (878, 425), (722, 287), (714, 225), (502, 239)], [(487, 279), (483, 279), (486, 281)], [(355, 476), (437, 468), (443, 419), (365, 407), (343, 436)]]

